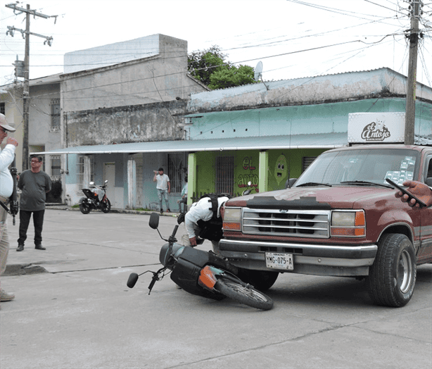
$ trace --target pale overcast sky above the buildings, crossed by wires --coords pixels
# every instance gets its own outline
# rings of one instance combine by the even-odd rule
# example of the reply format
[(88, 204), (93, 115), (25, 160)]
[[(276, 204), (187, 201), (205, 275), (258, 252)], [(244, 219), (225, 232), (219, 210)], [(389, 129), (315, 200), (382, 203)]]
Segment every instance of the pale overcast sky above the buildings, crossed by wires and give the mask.
[[(424, 1), (417, 80), (432, 86), (432, 0)], [(25, 15), (0, 1), (1, 82), (13, 82), (24, 60)], [(228, 61), (255, 68), (264, 80), (285, 80), (387, 67), (407, 75), (405, 0), (32, 0), (18, 6), (54, 18), (31, 18), (30, 79), (63, 73), (70, 51), (162, 33), (188, 42), (188, 52), (220, 46)]]

